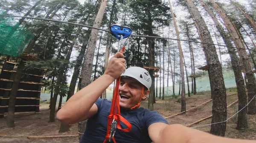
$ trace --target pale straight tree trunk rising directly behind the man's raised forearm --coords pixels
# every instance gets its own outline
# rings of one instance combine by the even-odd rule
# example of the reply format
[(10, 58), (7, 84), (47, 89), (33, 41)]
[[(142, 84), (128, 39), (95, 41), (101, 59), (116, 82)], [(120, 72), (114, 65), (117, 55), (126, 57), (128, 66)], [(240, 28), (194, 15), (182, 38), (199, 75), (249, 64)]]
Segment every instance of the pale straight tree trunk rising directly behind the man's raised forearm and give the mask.
[[(101, 26), (102, 23), (102, 18), (107, 6), (107, 2), (108, 0), (102, 0), (102, 3), (100, 5), (98, 14), (96, 16), (96, 19), (93, 23), (93, 27), (99, 28)], [(96, 48), (96, 41), (97, 41), (97, 36), (98, 36), (99, 30), (97, 29), (92, 29), (91, 33), (90, 33), (90, 38), (88, 41), (88, 47), (87, 47), (87, 51), (86, 54), (84, 56), (84, 64), (83, 64), (83, 72), (81, 73), (81, 87), (80, 88), (84, 88), (87, 85), (90, 84), (90, 77), (91, 77), (91, 73), (92, 73), (92, 68), (93, 68), (93, 58), (94, 58), (94, 51)], [(84, 132), (85, 129), (85, 121), (81, 121), (78, 124), (78, 132)], [(79, 134), (79, 140), (81, 140), (81, 134)]]

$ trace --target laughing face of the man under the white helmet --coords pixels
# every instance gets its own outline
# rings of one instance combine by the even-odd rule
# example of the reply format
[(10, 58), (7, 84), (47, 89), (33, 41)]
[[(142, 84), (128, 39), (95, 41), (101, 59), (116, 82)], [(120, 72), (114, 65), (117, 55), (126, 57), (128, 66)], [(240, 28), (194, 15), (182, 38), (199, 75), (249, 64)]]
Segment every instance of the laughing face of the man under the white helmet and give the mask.
[(133, 79), (122, 78), (119, 85), (119, 105), (129, 109), (138, 104), (142, 92), (142, 84)]

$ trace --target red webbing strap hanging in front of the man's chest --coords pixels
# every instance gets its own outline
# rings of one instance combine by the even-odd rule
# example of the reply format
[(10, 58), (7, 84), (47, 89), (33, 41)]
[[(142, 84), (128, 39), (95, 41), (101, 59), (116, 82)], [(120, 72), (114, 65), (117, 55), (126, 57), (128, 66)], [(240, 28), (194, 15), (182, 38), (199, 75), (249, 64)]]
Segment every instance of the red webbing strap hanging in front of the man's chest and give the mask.
[[(120, 52), (123, 53), (124, 50), (125, 50), (125, 46), (122, 47), (122, 50)], [(116, 87), (115, 87), (114, 94), (113, 94), (113, 100), (112, 100), (112, 104), (111, 104), (110, 114), (108, 116), (107, 135), (106, 135), (105, 140), (104, 140), (103, 143), (107, 143), (107, 141), (109, 140), (110, 133), (111, 133), (111, 123), (112, 123), (113, 120), (117, 121), (117, 123), (116, 123), (116, 128), (117, 129), (119, 129), (123, 132), (130, 132), (131, 131), (131, 123), (129, 123), (127, 120), (125, 120), (125, 118), (123, 118), (120, 115), (119, 84), (120, 84), (120, 77), (116, 79)], [(124, 123), (128, 128), (121, 129), (120, 121), (122, 121), (122, 123)], [(112, 140), (113, 140), (113, 143), (116, 143), (116, 140), (115, 140), (114, 137), (112, 137)]]

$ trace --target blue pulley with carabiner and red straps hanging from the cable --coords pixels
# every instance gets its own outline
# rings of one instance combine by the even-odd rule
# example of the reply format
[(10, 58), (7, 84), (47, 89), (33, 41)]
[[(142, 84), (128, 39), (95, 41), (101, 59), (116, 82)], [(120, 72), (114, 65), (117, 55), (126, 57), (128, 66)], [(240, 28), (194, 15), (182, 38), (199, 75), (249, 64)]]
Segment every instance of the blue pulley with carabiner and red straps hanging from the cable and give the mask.
[[(125, 50), (125, 44), (128, 41), (128, 38), (131, 36), (132, 31), (128, 27), (123, 27), (120, 25), (111, 25), (111, 34), (119, 39), (118, 42), (118, 49), (119, 52), (123, 53)], [(123, 43), (123, 39), (126, 41)], [(131, 131), (131, 123), (129, 123), (125, 118), (120, 115), (120, 107), (119, 107), (119, 84), (120, 84), (120, 77), (116, 79), (116, 86), (113, 94), (113, 100), (111, 104), (110, 114), (108, 116), (108, 127), (107, 127), (107, 135), (103, 143), (107, 143), (113, 141), (116, 143), (114, 138), (116, 128), (123, 131), (123, 132), (130, 132)], [(116, 113), (117, 112), (117, 113)], [(122, 129), (120, 125), (120, 121), (124, 123), (128, 128)]]

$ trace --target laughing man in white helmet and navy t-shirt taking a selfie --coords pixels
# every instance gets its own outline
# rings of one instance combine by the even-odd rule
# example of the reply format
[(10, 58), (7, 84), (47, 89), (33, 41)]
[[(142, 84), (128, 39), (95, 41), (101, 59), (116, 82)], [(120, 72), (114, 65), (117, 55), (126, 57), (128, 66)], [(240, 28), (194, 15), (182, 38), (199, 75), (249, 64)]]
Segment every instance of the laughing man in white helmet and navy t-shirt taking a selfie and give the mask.
[[(255, 140), (218, 137), (178, 124), (168, 125), (157, 112), (140, 107), (140, 101), (150, 92), (149, 73), (140, 67), (125, 70), (123, 58), (122, 53), (116, 53), (110, 59), (105, 73), (74, 94), (57, 113), (57, 119), (65, 124), (88, 119), (81, 143), (103, 143), (105, 140), (111, 101), (99, 97), (119, 76), (121, 115), (131, 123), (132, 128), (130, 132), (116, 129), (116, 143), (256, 143)], [(123, 123), (121, 127), (126, 128)]]

